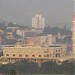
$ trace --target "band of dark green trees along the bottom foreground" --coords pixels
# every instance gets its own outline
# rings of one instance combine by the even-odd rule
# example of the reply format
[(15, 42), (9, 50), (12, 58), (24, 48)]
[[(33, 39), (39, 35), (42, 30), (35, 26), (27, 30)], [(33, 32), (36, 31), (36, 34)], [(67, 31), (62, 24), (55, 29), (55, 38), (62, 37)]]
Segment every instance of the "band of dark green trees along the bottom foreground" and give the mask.
[(74, 74), (74, 61), (64, 61), (61, 65), (55, 62), (47, 61), (39, 67), (37, 63), (22, 60), (14, 64), (6, 64), (0, 66), (0, 73), (16, 75), (16, 74)]

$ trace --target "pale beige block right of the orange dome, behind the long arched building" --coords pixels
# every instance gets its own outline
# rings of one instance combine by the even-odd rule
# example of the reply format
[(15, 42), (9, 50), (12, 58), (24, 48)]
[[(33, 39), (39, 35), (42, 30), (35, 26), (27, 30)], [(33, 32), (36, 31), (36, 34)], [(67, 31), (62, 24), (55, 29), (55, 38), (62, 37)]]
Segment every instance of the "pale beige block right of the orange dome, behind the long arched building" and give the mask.
[(56, 43), (56, 38), (52, 34), (37, 36), (37, 40), (39, 41), (39, 44), (41, 46), (42, 45), (50, 46)]

